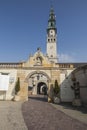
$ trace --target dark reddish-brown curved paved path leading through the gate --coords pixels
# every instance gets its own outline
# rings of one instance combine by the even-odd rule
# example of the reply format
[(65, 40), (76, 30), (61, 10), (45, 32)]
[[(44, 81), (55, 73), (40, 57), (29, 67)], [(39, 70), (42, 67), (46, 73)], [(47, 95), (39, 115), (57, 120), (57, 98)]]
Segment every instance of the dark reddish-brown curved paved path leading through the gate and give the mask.
[(87, 124), (61, 112), (58, 106), (56, 108), (43, 97), (31, 96), (22, 105), (28, 130), (87, 130)]

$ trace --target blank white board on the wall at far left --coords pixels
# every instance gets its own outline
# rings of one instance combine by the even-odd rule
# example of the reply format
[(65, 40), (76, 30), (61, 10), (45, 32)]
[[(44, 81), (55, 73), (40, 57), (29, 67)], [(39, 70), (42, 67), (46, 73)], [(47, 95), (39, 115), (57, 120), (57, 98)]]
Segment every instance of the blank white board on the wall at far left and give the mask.
[(7, 91), (9, 87), (9, 75), (0, 74), (0, 91)]

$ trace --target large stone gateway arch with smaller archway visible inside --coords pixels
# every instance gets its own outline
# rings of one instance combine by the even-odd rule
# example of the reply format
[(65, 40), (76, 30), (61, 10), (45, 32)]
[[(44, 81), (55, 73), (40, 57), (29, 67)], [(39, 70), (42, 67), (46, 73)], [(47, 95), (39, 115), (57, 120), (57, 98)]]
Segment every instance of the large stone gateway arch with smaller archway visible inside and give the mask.
[[(26, 77), (26, 81), (28, 82), (28, 93), (30, 92), (33, 95), (44, 94), (47, 93), (47, 88), (49, 86), (50, 78), (43, 71), (33, 71)], [(30, 91), (30, 92), (29, 92)]]

